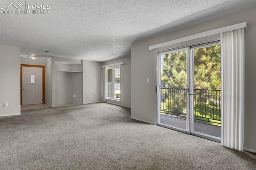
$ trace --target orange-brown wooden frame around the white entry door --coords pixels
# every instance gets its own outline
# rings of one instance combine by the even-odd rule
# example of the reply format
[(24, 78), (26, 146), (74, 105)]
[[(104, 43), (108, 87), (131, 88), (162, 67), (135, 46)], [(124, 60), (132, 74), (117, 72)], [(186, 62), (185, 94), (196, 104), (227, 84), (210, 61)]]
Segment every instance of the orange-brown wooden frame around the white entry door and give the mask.
[(22, 67), (40, 67), (43, 69), (43, 103), (45, 103), (45, 66), (20, 64), (20, 105), (22, 105)]

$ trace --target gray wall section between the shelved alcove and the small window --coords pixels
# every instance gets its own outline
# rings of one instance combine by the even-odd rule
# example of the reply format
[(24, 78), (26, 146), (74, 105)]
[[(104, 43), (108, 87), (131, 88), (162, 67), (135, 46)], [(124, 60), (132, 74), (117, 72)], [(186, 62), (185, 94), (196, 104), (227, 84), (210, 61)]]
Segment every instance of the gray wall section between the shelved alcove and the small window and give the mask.
[(83, 61), (83, 103), (102, 101), (101, 63)]

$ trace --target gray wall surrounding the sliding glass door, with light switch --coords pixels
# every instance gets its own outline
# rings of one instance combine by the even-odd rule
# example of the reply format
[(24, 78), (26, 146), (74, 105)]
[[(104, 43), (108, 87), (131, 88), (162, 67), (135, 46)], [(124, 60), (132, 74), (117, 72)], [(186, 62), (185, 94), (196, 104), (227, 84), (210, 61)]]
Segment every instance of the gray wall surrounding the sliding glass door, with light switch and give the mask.
[[(150, 38), (131, 45), (131, 117), (148, 123), (155, 123), (155, 51), (148, 46), (175, 40), (216, 28), (247, 22), (245, 30), (245, 115), (244, 115), (244, 147), (256, 150), (256, 6), (228, 14), (213, 20), (202, 22), (188, 28), (162, 36)], [(146, 83), (150, 78), (150, 83)]]

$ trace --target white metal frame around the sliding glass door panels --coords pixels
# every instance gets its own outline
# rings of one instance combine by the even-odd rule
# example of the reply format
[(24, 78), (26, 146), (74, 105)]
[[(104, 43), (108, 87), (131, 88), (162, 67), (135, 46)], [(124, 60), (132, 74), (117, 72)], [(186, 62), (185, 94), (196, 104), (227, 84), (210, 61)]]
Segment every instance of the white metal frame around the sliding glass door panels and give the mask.
[[(212, 40), (204, 43), (196, 43), (194, 45), (186, 45), (182, 47), (175, 47), (175, 48), (170, 48), (170, 49), (165, 49), (162, 51), (155, 51), (155, 124), (161, 127), (165, 128), (170, 128), (172, 130), (176, 130), (179, 132), (184, 132), (187, 134), (192, 134), (194, 136), (199, 136), (202, 138), (206, 138), (208, 140), (212, 140), (215, 142), (221, 142), (221, 138), (211, 136), (208, 134), (202, 134), (200, 132), (194, 132), (194, 107), (191, 103), (193, 103), (193, 90), (194, 90), (194, 55), (192, 53), (192, 50), (195, 49), (196, 47), (205, 47), (207, 45), (216, 45), (220, 44), (220, 40)], [(160, 103), (160, 95), (161, 95), (161, 87), (160, 87), (160, 78), (161, 78), (161, 64), (160, 64), (160, 54), (165, 53), (165, 52), (174, 52), (174, 51), (180, 51), (182, 49), (188, 49), (187, 50), (187, 130), (177, 128), (177, 127), (172, 127), (172, 126), (166, 126), (161, 123), (160, 121), (160, 108), (159, 108), (159, 103)], [(160, 77), (159, 77), (160, 76)], [(221, 79), (222, 81), (222, 79)], [(191, 94), (192, 93), (192, 94)], [(221, 131), (222, 135), (222, 131)]]

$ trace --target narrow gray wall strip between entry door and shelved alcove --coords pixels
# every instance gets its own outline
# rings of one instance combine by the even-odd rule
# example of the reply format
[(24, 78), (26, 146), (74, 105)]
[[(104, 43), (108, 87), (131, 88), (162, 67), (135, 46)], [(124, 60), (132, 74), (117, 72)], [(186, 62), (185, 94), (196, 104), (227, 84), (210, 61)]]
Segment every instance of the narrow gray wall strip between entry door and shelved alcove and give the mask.
[(52, 58), (46, 60), (46, 89), (45, 89), (45, 103), (52, 106)]

